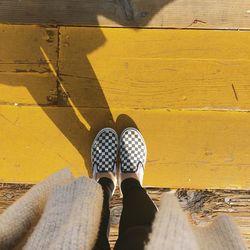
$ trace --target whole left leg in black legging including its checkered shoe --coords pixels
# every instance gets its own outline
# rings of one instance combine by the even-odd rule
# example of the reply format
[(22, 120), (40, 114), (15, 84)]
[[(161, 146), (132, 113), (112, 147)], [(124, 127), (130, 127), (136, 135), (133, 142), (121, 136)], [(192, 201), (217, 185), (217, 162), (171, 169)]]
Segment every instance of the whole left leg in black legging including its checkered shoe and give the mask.
[[(110, 249), (109, 231), (109, 201), (116, 185), (116, 159), (118, 152), (118, 135), (112, 128), (104, 128), (96, 135), (91, 147), (91, 163), (93, 178), (102, 186), (103, 207), (101, 222), (95, 250)], [(93, 200), (93, 202), (95, 202)]]

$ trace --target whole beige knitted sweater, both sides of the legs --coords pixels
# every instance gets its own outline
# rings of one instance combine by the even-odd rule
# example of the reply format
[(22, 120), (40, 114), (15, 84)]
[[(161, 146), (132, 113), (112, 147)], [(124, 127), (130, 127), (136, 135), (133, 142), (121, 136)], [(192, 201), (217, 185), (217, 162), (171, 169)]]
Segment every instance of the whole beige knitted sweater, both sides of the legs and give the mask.
[[(101, 220), (102, 189), (68, 169), (35, 185), (0, 215), (0, 249), (91, 250)], [(146, 250), (247, 249), (228, 216), (207, 227), (191, 225), (176, 198), (165, 194)]]

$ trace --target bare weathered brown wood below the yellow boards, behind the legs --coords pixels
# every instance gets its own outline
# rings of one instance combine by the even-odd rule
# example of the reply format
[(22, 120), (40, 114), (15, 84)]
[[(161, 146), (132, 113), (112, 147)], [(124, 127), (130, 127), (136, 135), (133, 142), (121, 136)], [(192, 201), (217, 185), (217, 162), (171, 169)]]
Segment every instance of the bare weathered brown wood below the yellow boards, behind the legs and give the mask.
[[(0, 185), (0, 213), (21, 197), (31, 185), (1, 184)], [(168, 192), (166, 188), (147, 188), (149, 196), (157, 206), (161, 196)], [(233, 217), (240, 231), (250, 247), (250, 192), (244, 190), (178, 190), (177, 197), (185, 209), (190, 221), (204, 226), (215, 216), (223, 213)], [(111, 230), (110, 244), (114, 246), (118, 236), (118, 223), (122, 209), (122, 200), (118, 189), (111, 200)]]

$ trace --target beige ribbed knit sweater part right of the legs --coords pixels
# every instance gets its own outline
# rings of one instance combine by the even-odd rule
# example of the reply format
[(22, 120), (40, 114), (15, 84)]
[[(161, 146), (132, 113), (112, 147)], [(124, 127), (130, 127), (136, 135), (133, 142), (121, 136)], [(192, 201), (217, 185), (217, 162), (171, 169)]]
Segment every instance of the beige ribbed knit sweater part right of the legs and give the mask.
[(238, 228), (226, 215), (200, 227), (191, 225), (173, 194), (165, 194), (146, 250), (246, 250)]

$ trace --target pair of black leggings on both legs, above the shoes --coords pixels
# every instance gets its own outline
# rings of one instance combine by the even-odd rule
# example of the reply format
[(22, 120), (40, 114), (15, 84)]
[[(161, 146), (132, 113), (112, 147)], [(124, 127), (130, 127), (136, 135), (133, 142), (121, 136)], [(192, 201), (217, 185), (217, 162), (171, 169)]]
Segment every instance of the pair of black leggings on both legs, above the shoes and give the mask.
[[(101, 178), (104, 201), (102, 219), (94, 250), (110, 249), (107, 230), (109, 227), (109, 201), (111, 199), (113, 182), (109, 178)], [(121, 183), (123, 193), (123, 210), (119, 225), (119, 237), (115, 250), (141, 250), (148, 241), (148, 235), (157, 211), (139, 181), (128, 178)]]

